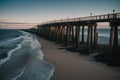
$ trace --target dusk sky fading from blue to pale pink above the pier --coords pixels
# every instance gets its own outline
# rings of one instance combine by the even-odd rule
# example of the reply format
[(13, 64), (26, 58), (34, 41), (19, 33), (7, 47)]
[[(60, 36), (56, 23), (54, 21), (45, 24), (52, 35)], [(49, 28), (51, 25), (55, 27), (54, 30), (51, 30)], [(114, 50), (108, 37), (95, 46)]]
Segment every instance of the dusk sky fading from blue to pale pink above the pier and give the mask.
[(120, 12), (120, 0), (0, 0), (0, 22), (49, 20)]

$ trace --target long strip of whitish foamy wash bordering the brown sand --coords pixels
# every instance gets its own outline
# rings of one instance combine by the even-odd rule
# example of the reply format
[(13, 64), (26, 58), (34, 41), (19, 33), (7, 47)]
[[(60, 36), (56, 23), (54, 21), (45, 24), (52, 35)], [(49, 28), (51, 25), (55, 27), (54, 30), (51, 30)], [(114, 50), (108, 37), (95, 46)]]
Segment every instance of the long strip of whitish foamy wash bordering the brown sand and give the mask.
[(22, 32), (24, 36), (23, 44), (29, 44), (29, 55), (31, 61), (27, 64), (22, 76), (17, 80), (50, 80), (54, 73), (54, 66), (43, 60), (43, 52), (40, 50), (41, 45), (36, 36), (27, 32)]

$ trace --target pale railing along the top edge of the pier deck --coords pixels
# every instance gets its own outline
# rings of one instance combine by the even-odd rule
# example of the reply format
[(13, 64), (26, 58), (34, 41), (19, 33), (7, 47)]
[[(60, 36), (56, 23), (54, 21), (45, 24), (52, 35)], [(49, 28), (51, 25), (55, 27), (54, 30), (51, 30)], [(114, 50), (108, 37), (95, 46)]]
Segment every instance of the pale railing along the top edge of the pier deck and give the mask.
[(95, 20), (102, 21), (102, 20), (111, 20), (111, 19), (120, 19), (120, 13), (52, 20), (52, 21), (45, 22), (43, 24), (62, 23), (62, 22), (77, 22), (77, 21), (95, 21)]

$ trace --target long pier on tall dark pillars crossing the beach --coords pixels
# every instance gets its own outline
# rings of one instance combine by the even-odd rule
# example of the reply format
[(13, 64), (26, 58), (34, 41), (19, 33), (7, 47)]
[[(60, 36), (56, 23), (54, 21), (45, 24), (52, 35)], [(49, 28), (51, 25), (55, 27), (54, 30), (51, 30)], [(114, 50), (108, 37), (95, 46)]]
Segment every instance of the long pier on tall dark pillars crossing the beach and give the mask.
[[(108, 22), (110, 27), (109, 46), (113, 55), (118, 55), (118, 27), (120, 26), (120, 13), (68, 18), (49, 21), (37, 25), (37, 34), (53, 41), (66, 44), (68, 48), (82, 48), (86, 44), (86, 50), (90, 54), (98, 45), (97, 23)], [(84, 29), (87, 27), (87, 43), (84, 39)], [(82, 35), (80, 35), (80, 31)], [(81, 37), (80, 37), (81, 36)], [(80, 41), (80, 38), (81, 41)]]

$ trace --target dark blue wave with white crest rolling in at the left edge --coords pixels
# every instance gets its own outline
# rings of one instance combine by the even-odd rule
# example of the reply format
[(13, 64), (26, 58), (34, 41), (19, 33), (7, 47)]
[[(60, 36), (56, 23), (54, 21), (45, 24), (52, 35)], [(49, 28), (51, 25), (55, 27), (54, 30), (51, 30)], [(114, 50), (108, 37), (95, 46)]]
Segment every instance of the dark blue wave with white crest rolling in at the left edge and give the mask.
[(0, 66), (10, 59), (12, 53), (21, 48), (22, 37), (21, 35), (19, 37), (5, 38), (5, 40), (0, 41)]

